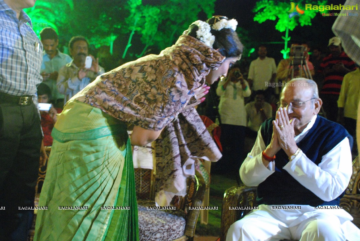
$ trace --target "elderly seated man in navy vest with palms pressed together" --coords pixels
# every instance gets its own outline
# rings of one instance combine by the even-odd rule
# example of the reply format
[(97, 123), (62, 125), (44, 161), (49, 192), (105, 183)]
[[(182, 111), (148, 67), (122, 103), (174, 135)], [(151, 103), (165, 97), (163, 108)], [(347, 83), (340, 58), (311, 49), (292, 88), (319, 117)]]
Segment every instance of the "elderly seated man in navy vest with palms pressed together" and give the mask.
[(338, 206), (352, 173), (352, 137), (318, 115), (321, 104), (314, 81), (287, 83), (276, 118), (262, 124), (240, 168), (260, 205), (230, 226), (226, 240), (359, 240)]

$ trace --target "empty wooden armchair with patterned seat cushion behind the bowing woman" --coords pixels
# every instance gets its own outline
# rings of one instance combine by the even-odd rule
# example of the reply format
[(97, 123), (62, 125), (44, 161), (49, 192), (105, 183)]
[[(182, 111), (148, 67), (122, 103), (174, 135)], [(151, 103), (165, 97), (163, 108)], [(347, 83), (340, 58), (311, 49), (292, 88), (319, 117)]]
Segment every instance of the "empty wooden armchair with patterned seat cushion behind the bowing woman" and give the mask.
[(155, 206), (154, 180), (153, 170), (135, 168), (140, 240), (193, 240), (200, 210), (189, 210), (189, 207), (202, 206), (203, 177), (196, 172), (188, 178), (187, 195), (175, 196), (172, 200), (176, 210), (147, 210), (147, 206)]

